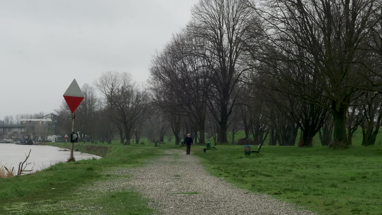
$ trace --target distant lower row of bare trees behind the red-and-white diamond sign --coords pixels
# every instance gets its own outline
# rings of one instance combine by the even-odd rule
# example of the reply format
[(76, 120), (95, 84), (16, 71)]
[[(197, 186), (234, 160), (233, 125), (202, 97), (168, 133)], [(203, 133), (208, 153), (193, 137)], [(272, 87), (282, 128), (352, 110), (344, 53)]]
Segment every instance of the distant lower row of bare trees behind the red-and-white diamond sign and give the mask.
[[(146, 136), (149, 141), (163, 142), (169, 129), (167, 116), (156, 110), (149, 93), (126, 72), (104, 72), (94, 86), (81, 88), (84, 100), (76, 110), (75, 129), (80, 141), (111, 143), (118, 134), (121, 143), (136, 143)], [(100, 96), (97, 96), (100, 94)], [(71, 112), (65, 101), (57, 110), (61, 134), (71, 129)]]

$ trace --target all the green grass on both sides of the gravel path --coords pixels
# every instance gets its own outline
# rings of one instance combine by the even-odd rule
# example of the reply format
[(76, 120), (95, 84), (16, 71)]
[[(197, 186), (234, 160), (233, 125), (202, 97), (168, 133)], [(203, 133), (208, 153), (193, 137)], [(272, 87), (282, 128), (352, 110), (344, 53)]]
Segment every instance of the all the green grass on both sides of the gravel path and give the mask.
[[(243, 137), (243, 132), (238, 132), (235, 140)], [(191, 147), (191, 153), (201, 157), (207, 171), (214, 176), (252, 192), (270, 194), (322, 214), (382, 215), (381, 140), (379, 135), (375, 146), (361, 146), (362, 133), (358, 130), (353, 147), (346, 150), (322, 147), (316, 136), (311, 148), (269, 146), (265, 141), (260, 157), (244, 156), (243, 146), (231, 144), (217, 145), (207, 153), (202, 152), (204, 145), (196, 145)], [(146, 139), (139, 142), (144, 145), (126, 146), (118, 140), (112, 144), (79, 143), (75, 149), (105, 158), (60, 163), (37, 174), (0, 179), (0, 214), (81, 214), (83, 207), (98, 212), (100, 209), (94, 205), (113, 208), (104, 211), (107, 214), (126, 211), (150, 214), (146, 200), (137, 192), (76, 192), (94, 182), (113, 179), (110, 174), (102, 174), (108, 169), (145, 165), (147, 159), (160, 156), (168, 148), (185, 150), (173, 142), (159, 147)], [(70, 148), (70, 143), (49, 145)], [(81, 202), (78, 210), (65, 207), (78, 201)]]

